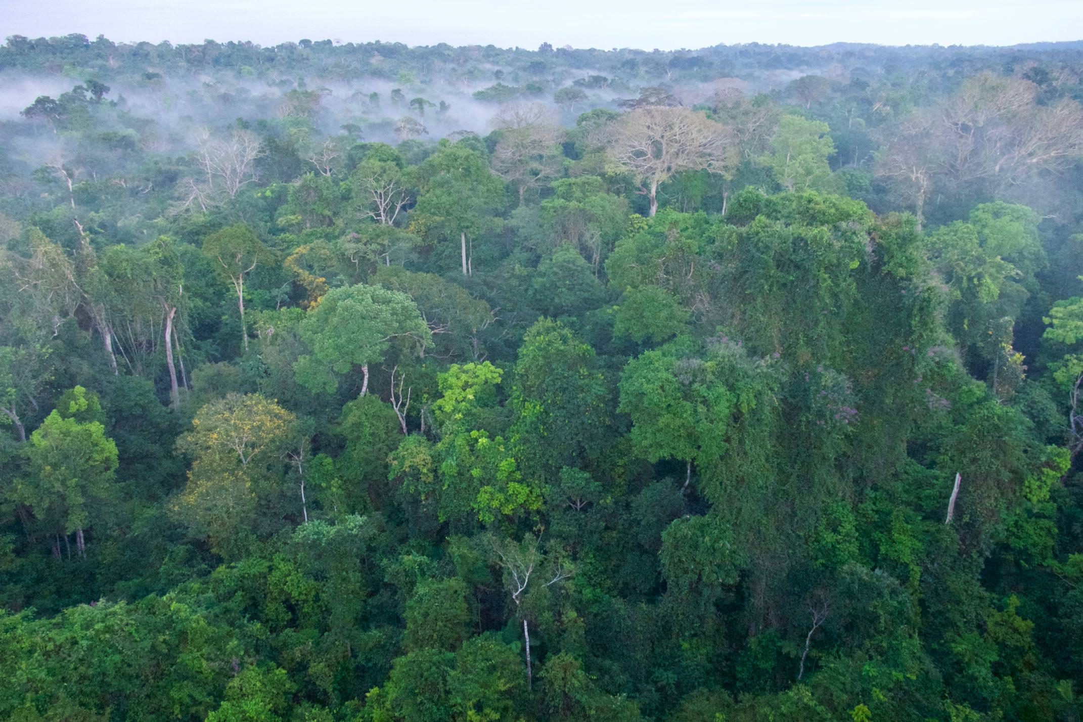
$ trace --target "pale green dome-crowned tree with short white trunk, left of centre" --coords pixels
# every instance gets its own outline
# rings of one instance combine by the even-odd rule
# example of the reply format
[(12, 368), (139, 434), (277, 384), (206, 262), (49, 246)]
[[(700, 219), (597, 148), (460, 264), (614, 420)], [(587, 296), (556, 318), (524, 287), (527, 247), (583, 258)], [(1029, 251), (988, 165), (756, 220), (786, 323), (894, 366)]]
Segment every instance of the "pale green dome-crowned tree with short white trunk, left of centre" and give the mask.
[(392, 342), (417, 352), (432, 342), (432, 332), (408, 296), (363, 284), (328, 291), (319, 305), (309, 310), (299, 330), (312, 353), (293, 365), (297, 381), (330, 393), (338, 388), (339, 376), (360, 366), (362, 396), (368, 390), (368, 365), (382, 360)]

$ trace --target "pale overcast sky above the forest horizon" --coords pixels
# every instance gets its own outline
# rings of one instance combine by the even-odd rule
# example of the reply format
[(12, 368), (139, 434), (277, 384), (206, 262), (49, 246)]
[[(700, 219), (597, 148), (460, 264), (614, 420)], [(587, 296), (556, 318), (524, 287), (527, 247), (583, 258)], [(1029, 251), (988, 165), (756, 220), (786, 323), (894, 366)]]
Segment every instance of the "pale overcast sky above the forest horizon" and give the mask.
[(1083, 0), (0, 0), (3, 37), (309, 38), (537, 48), (996, 44), (1083, 39)]

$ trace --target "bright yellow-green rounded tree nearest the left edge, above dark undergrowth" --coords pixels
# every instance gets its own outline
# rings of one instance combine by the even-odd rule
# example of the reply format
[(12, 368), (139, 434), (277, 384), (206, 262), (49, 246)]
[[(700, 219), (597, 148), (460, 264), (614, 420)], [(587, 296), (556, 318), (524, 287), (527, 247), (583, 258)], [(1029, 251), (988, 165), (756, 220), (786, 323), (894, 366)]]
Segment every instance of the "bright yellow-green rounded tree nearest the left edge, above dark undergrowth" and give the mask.
[(102, 506), (113, 496), (117, 445), (105, 435), (101, 421), (79, 420), (92, 405), (97, 405), (96, 397), (76, 386), (66, 413), (53, 409), (30, 434), (26, 451), (29, 474), (15, 480), (16, 500), (32, 508), (35, 515), (52, 527), (50, 533), (57, 535), (55, 556), (61, 554), (61, 531), (65, 544), (74, 531), (79, 555), (86, 555), (83, 529), (95, 521), (92, 517), (104, 521)]

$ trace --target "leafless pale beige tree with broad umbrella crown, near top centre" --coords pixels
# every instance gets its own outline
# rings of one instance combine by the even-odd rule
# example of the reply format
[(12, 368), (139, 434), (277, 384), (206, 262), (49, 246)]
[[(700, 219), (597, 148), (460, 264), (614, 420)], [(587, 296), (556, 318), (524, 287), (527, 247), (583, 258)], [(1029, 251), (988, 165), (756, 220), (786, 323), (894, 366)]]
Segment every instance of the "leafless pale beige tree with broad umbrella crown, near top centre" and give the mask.
[(653, 216), (658, 210), (658, 184), (681, 171), (729, 173), (736, 144), (728, 128), (702, 113), (651, 105), (631, 110), (615, 124), (610, 153), (639, 181), (638, 192), (647, 195)]

